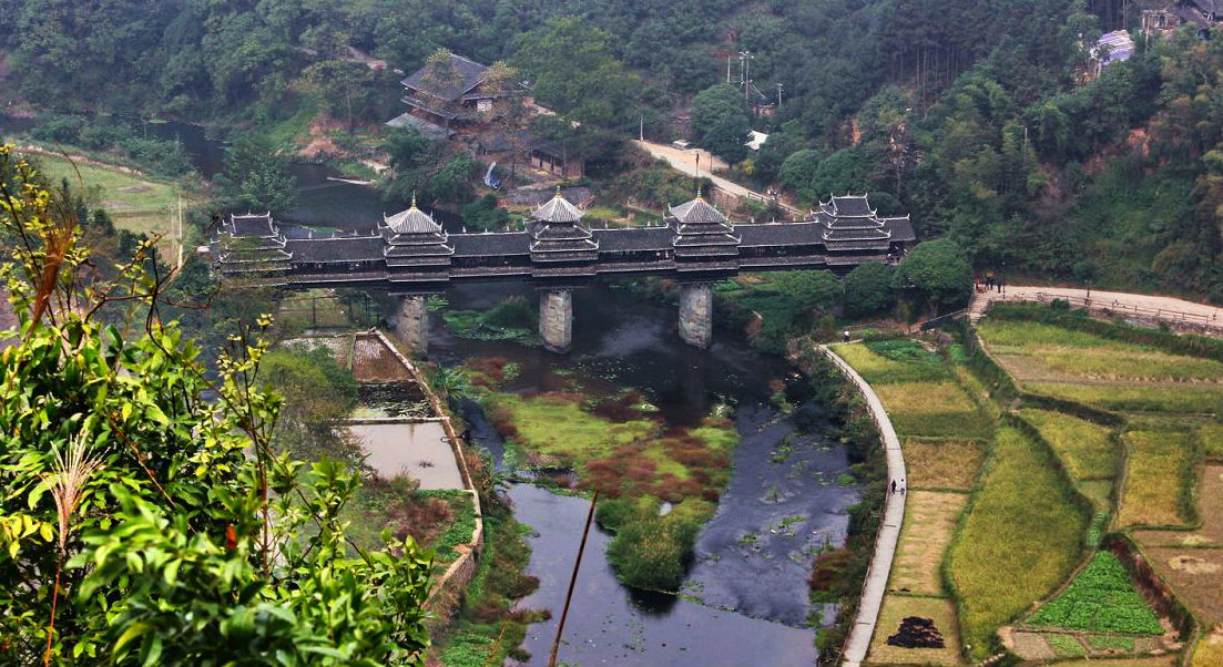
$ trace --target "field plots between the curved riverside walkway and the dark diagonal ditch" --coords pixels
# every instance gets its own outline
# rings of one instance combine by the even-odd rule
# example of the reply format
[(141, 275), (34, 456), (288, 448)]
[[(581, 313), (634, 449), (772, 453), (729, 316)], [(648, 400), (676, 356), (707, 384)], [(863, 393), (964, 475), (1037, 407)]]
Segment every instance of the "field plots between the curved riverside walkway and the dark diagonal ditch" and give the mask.
[[(998, 625), (1074, 567), (1086, 528), (1035, 445), (1013, 428), (999, 429), (997, 408), (965, 388), (963, 348), (944, 354), (926, 344), (833, 348), (883, 401), (910, 475), (905, 524), (867, 655), (872, 665), (963, 665), (988, 656)], [(999, 577), (1005, 568), (1025, 575)]]

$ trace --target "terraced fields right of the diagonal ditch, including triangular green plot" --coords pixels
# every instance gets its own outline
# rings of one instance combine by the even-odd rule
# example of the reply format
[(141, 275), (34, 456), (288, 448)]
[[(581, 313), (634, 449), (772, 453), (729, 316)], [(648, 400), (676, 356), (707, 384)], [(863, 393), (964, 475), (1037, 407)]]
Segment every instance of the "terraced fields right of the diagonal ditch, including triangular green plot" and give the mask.
[[(1031, 304), (997, 307), (980, 337), (992, 387), (1091, 503), (1087, 545), (1120, 556), (1097, 552), (1015, 623), (1014, 650), (1134, 660), (1189, 641), (1183, 663), (1223, 665), (1223, 343)], [(1119, 567), (1163, 592), (1158, 627)]]

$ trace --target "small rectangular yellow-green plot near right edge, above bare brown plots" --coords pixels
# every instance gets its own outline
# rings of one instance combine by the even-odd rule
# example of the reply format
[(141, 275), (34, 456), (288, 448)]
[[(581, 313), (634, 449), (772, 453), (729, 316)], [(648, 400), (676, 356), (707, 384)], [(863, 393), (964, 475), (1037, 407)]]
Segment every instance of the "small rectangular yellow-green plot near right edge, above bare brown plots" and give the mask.
[(1121, 490), (1121, 525), (1183, 525), (1189, 522), (1194, 447), (1181, 431), (1129, 431), (1129, 465)]

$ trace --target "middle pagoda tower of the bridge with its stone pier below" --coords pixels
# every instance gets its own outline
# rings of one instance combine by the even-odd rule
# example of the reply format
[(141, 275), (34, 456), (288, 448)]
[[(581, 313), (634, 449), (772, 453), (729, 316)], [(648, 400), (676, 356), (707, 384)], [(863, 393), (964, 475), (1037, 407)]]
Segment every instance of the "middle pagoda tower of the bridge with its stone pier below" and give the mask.
[(559, 285), (564, 279), (593, 276), (599, 259), (599, 242), (580, 224), (583, 215), (556, 188), (556, 195), (531, 214), (527, 226), (532, 275), (555, 285), (539, 294), (539, 338), (549, 352), (569, 352), (574, 343), (574, 292)]

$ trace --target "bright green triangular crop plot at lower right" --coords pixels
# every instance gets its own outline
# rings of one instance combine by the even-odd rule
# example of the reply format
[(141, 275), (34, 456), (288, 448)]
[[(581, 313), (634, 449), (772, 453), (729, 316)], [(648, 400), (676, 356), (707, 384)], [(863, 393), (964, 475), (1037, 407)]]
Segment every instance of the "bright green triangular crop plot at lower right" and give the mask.
[(1046, 602), (1027, 622), (1071, 630), (1163, 634), (1159, 617), (1134, 590), (1121, 562), (1108, 552), (1096, 553), (1066, 590)]

